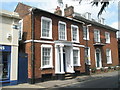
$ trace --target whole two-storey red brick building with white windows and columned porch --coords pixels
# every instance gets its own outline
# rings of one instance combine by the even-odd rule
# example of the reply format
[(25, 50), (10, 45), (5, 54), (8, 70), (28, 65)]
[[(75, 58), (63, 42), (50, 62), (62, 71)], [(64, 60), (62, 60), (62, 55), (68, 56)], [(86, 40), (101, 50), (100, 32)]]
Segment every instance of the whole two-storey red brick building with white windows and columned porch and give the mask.
[[(67, 7), (65, 16), (19, 3), (23, 18), (22, 50), (28, 54), (29, 80), (84, 73), (118, 65), (116, 29), (81, 17)], [(69, 18), (68, 18), (69, 17)], [(23, 49), (24, 48), (24, 49)]]

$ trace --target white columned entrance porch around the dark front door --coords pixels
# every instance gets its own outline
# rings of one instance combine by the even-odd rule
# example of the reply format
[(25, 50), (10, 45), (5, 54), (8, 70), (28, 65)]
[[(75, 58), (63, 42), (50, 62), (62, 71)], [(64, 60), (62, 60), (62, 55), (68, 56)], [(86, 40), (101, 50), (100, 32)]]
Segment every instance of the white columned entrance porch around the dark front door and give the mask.
[(61, 47), (58, 45), (55, 52), (55, 73), (74, 73), (72, 47), (65, 45)]

